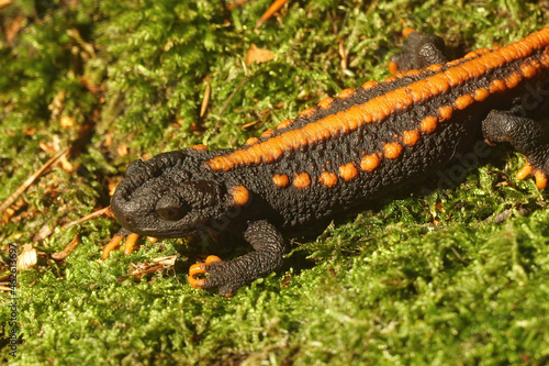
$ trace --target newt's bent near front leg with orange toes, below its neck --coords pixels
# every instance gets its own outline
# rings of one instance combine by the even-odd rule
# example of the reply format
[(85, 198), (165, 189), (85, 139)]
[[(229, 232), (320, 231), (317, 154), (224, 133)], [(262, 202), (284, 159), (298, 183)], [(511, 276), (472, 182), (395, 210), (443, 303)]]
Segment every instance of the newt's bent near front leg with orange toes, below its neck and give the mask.
[[(244, 239), (251, 244), (255, 252), (231, 262), (210, 256), (205, 263), (191, 266), (189, 284), (199, 289), (217, 287), (220, 295), (229, 297), (243, 285), (280, 268), (284, 255), (284, 240), (272, 224), (265, 220), (255, 221), (248, 225)], [(194, 277), (203, 273), (208, 273), (209, 277)]]

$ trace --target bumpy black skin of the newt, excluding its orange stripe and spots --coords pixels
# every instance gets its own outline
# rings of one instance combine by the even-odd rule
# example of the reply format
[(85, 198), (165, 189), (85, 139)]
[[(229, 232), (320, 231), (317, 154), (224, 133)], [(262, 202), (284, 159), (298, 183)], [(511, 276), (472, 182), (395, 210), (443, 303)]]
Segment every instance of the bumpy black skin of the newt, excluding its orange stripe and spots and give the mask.
[[(393, 60), (403, 70), (445, 59), (438, 38), (412, 34), (403, 54)], [(413, 130), (416, 125), (412, 121), (436, 113), (438, 107), (447, 104), (453, 96), (461, 95), (463, 88), (472, 91), (513, 71), (514, 65), (509, 65), (468, 80), (458, 89), (450, 89), (406, 111), (392, 114), (383, 123), (367, 124), (352, 133), (290, 151), (271, 164), (237, 166), (227, 171), (213, 170), (205, 164), (212, 157), (233, 149), (183, 149), (160, 154), (145, 163), (136, 160), (127, 168), (125, 179), (112, 198), (112, 211), (127, 231), (160, 239), (187, 236), (200, 231), (244, 234), (255, 252), (233, 262), (211, 264), (208, 266), (210, 276), (202, 286), (217, 287), (221, 295), (232, 293), (281, 266), (284, 253), (281, 233), (320, 219), (333, 218), (349, 209), (366, 209), (369, 202), (380, 196), (433, 176), (479, 141), (511, 142), (533, 165), (549, 175), (548, 133), (538, 122), (528, 118), (539, 109), (523, 108), (522, 98), (528, 88), (533, 88), (525, 85), (455, 111), (451, 119), (438, 125), (434, 133), (422, 135), (413, 148), (405, 148), (397, 158), (383, 159), (373, 171), (359, 171), (350, 181), (339, 179), (332, 188), (326, 188), (315, 179), (322, 171), (337, 173), (340, 165), (358, 162), (361, 152), (381, 151), (395, 133)], [(367, 90), (359, 88), (352, 97), (337, 99), (327, 109), (318, 108), (311, 117), (296, 118), (291, 126), (276, 134), (317, 121), (351, 104), (363, 103), (424, 78), (429, 73), (423, 70), (418, 76), (381, 82)], [(544, 75), (536, 80), (540, 82), (537, 89), (547, 90)], [(536, 97), (539, 96), (547, 98), (544, 92)], [(291, 184), (280, 188), (272, 182), (277, 174), (292, 178), (303, 171), (309, 173), (312, 180), (306, 188), (296, 188)], [(233, 199), (231, 190), (235, 186), (243, 186), (249, 191), (245, 204), (237, 204)]]

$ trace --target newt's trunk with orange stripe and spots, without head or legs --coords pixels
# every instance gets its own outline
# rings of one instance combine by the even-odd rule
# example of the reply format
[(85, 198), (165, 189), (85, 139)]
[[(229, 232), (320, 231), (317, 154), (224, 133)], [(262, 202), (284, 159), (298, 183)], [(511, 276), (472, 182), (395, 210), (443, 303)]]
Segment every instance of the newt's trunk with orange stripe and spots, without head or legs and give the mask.
[(548, 44), (546, 29), (502, 48), (345, 89), (205, 164), (265, 197), (284, 225), (345, 211), (425, 180), (472, 149), (491, 110), (533, 112), (536, 96), (528, 93), (545, 85)]

